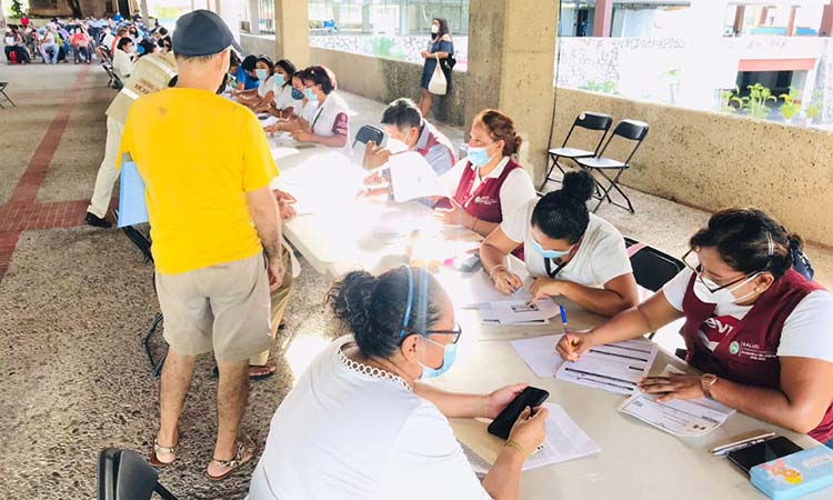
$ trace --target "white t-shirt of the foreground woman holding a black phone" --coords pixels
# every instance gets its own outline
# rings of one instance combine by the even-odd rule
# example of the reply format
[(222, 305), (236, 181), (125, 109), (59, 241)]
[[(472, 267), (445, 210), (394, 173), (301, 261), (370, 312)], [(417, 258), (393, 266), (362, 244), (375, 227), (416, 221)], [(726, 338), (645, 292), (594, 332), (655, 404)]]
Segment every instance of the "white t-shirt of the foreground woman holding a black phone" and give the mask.
[(349, 368), (352, 341), (328, 347), (281, 402), (249, 500), (489, 499), (440, 410)]

